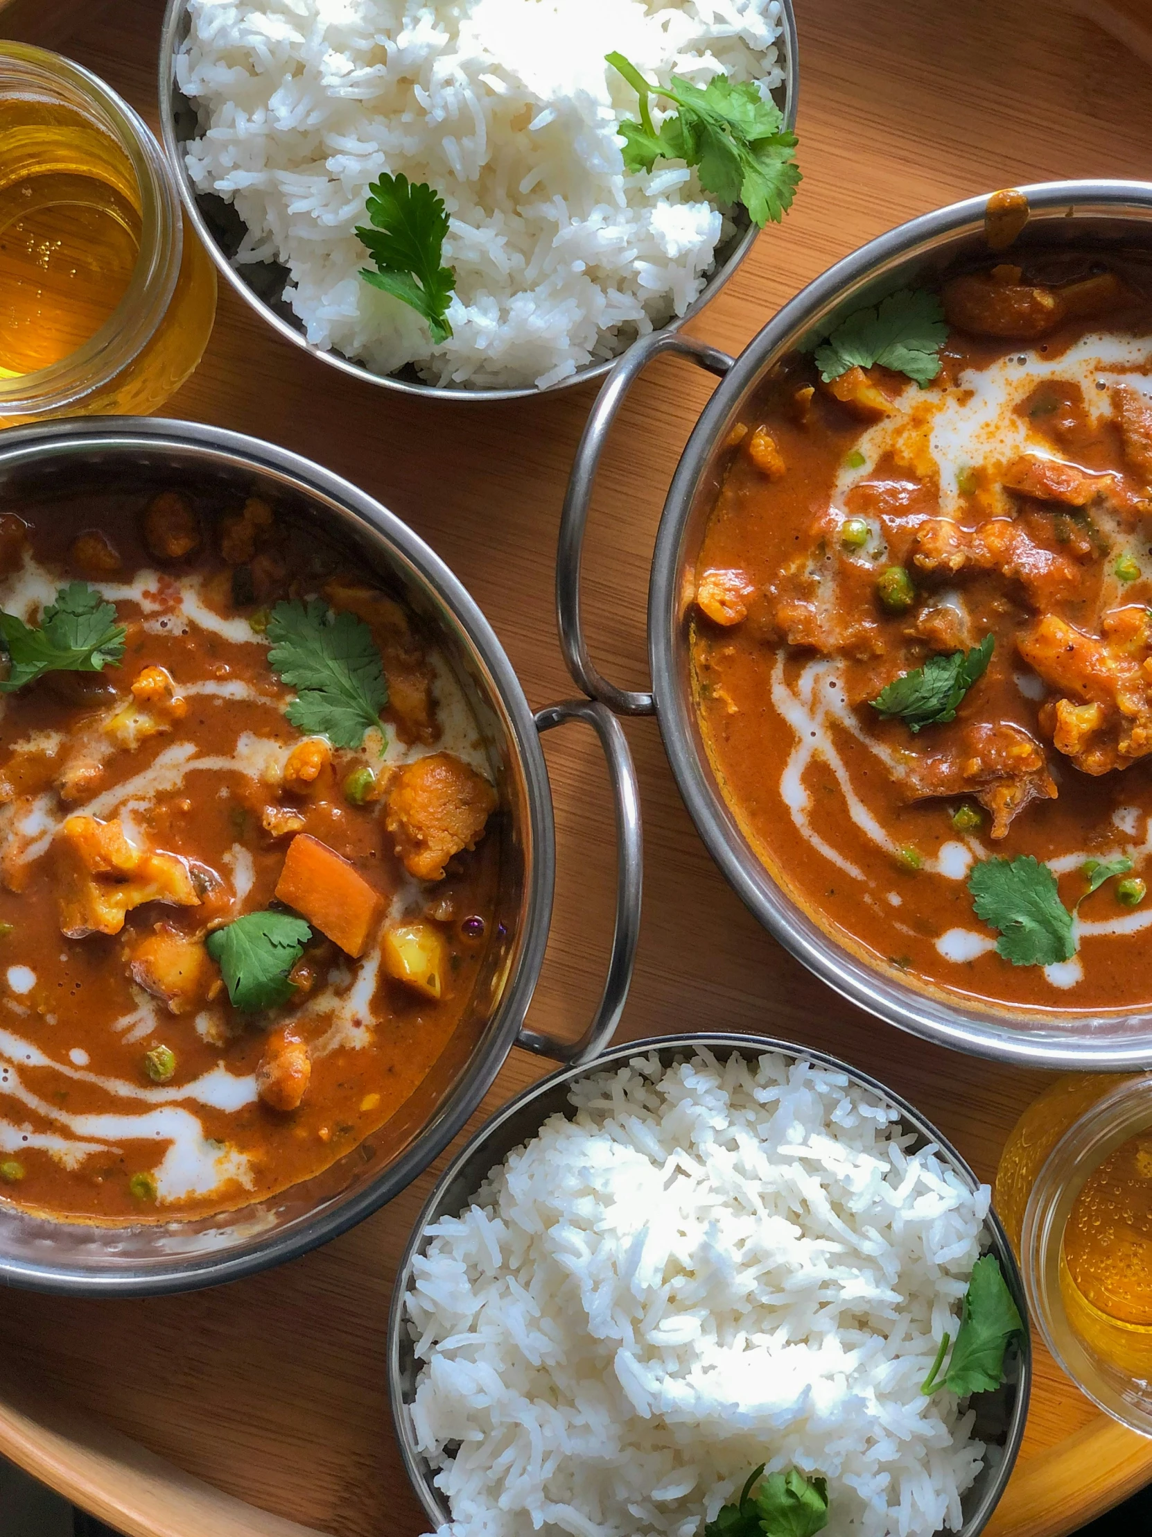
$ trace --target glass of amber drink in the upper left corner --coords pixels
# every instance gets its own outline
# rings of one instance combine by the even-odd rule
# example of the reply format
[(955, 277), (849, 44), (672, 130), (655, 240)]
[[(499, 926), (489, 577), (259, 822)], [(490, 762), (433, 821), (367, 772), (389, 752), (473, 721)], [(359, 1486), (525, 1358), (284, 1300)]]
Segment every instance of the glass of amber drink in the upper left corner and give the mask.
[(78, 65), (0, 43), (0, 427), (155, 410), (215, 309), (143, 120)]

